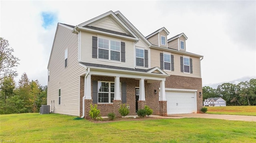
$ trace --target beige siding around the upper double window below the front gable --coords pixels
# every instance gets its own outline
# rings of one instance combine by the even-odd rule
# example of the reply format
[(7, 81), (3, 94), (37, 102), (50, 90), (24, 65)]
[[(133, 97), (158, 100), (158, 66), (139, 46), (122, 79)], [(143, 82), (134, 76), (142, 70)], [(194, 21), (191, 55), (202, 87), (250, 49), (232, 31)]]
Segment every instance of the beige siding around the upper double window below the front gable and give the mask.
[[(94, 63), (94, 64), (102, 64), (102, 65), (112, 65), (112, 66), (120, 66), (127, 68), (134, 68), (134, 42), (128, 41), (124, 39), (120, 39), (125, 43), (125, 62), (112, 61), (106, 59), (95, 59), (92, 58), (92, 36), (100, 37), (101, 35), (97, 35), (89, 32), (82, 32), (81, 34), (81, 61), (85, 63)], [(106, 35), (104, 36), (108, 38)], [(114, 37), (109, 37), (114, 38)], [(115, 38), (118, 39), (118, 38)]]

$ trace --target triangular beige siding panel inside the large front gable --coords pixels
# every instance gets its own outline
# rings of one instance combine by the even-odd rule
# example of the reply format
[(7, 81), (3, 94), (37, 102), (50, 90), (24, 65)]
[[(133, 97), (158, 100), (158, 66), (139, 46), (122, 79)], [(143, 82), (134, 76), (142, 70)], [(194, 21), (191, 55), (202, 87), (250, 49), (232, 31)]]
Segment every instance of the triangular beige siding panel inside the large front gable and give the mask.
[(121, 32), (121, 33), (125, 33), (125, 31), (123, 31), (118, 25), (115, 24), (115, 22), (112, 20), (112, 18), (108, 18), (108, 19), (106, 19), (102, 22), (99, 22), (99, 23), (97, 23), (93, 26), (103, 28), (103, 29), (112, 30), (112, 31), (117, 31), (117, 32)]

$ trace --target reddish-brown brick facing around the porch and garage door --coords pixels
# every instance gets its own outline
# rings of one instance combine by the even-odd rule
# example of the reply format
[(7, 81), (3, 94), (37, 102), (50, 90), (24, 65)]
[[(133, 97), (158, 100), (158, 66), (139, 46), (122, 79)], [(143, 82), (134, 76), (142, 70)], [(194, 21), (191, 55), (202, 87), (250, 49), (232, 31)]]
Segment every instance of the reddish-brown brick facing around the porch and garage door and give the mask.
[[(114, 82), (114, 77), (110, 76), (91, 76), (91, 80)], [(132, 78), (120, 78), (120, 82), (126, 82), (126, 105), (130, 106), (130, 114), (136, 115), (136, 95), (135, 89), (139, 87), (139, 80)], [(138, 109), (148, 105), (153, 110), (153, 114), (167, 116), (167, 102), (159, 101), (160, 82), (147, 83), (145, 81), (145, 99), (146, 101), (138, 101)], [(193, 89), (197, 92), (197, 110), (198, 113), (203, 106), (202, 98), (199, 98), (199, 92), (202, 92), (202, 78), (194, 78), (188, 76), (171, 75), (166, 78), (165, 88)], [(92, 89), (91, 89), (92, 90)], [(157, 91), (157, 93), (154, 92)], [(82, 97), (84, 96), (84, 77), (80, 77), (80, 115), (82, 116)], [(85, 100), (85, 118), (88, 118), (92, 100)], [(122, 104), (121, 100), (114, 100), (113, 104), (98, 104), (101, 116), (107, 116), (108, 113), (114, 112), (117, 117), (120, 116), (118, 109)], [(93, 104), (94, 105), (94, 104)], [(120, 116), (121, 117), (121, 116)]]

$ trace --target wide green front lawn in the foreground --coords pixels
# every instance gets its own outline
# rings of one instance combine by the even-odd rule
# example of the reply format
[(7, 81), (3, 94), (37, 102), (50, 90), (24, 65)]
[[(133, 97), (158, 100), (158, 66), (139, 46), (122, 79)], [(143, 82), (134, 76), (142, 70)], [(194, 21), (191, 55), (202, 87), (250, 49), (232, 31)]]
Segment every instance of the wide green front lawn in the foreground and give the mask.
[(16, 143), (252, 143), (256, 123), (221, 119), (151, 119), (93, 123), (60, 114), (0, 115), (0, 139)]

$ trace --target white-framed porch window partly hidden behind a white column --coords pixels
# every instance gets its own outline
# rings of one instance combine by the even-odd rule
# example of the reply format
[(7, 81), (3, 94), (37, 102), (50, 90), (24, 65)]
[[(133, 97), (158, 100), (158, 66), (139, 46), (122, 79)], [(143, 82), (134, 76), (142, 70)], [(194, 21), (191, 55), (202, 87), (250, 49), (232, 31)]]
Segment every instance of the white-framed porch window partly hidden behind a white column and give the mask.
[[(121, 83), (120, 83), (121, 92)], [(115, 94), (114, 82), (98, 82), (98, 103), (113, 103)], [(121, 93), (120, 93), (121, 94)]]

